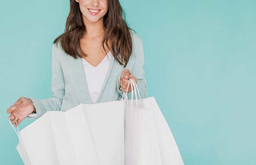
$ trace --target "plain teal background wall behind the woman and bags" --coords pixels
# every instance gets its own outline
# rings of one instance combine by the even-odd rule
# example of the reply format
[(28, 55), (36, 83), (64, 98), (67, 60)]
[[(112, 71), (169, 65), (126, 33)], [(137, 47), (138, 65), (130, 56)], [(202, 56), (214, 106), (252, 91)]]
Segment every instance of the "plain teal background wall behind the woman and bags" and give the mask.
[[(256, 165), (256, 1), (127, 0), (155, 97), (186, 165)], [(51, 92), (52, 42), (67, 0), (0, 6), (0, 164), (21, 165), (7, 108)], [(33, 120), (20, 123), (22, 130)]]

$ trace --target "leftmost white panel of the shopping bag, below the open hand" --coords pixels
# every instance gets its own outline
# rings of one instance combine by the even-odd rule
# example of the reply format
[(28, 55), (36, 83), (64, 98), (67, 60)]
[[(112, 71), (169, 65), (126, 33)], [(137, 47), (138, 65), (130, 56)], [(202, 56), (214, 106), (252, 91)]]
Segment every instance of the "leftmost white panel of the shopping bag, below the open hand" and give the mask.
[[(58, 154), (49, 122), (49, 114), (20, 131), (20, 147), (26, 152), (31, 165), (59, 165)], [(27, 164), (25, 164), (27, 165)]]

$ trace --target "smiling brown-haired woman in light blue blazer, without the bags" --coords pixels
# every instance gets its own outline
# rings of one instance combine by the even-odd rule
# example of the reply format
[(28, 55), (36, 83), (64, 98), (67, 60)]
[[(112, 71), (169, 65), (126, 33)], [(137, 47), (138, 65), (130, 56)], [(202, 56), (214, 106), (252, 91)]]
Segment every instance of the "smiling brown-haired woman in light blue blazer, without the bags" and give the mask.
[(147, 97), (142, 40), (122, 16), (119, 0), (70, 0), (65, 31), (52, 46), (53, 95), (20, 97), (7, 109), (11, 123), (80, 103), (120, 100), (128, 79), (135, 80), (141, 98)]

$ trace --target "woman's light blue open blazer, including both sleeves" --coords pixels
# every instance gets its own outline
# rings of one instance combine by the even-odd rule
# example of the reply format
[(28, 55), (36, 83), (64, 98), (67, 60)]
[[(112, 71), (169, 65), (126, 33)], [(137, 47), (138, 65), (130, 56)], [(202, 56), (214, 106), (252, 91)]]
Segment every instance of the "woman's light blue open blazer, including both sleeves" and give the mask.
[[(147, 85), (144, 77), (144, 51), (141, 38), (132, 30), (132, 55), (125, 68), (114, 57), (110, 59), (110, 65), (103, 86), (96, 103), (117, 101), (123, 96), (119, 89), (119, 76), (124, 69), (129, 69), (137, 78), (137, 86), (141, 98), (147, 97)], [(81, 58), (74, 59), (67, 55), (61, 48), (61, 44), (52, 45), (52, 97), (48, 99), (30, 98), (36, 108), (36, 113), (28, 116), (29, 119), (37, 119), (47, 111), (67, 111), (80, 103), (92, 104), (92, 99), (87, 86), (85, 70)], [(128, 93), (131, 99), (131, 92)]]

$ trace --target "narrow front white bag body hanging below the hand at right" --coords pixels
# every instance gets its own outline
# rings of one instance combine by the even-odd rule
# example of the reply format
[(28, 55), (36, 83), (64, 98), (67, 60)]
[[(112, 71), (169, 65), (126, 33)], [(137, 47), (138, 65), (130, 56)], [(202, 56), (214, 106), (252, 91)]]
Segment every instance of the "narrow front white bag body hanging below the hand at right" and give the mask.
[(150, 109), (125, 108), (125, 165), (161, 165)]

